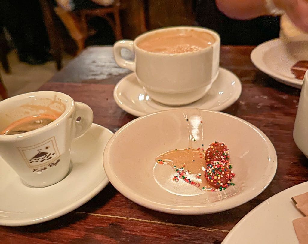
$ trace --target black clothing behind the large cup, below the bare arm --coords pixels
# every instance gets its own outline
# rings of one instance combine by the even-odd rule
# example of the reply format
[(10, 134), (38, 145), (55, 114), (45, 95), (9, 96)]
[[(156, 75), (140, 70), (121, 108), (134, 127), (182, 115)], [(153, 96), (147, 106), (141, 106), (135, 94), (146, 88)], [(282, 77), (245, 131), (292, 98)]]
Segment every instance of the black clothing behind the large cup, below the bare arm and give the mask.
[(234, 20), (221, 13), (214, 0), (197, 0), (197, 25), (217, 31), (223, 45), (258, 45), (279, 36), (279, 17)]

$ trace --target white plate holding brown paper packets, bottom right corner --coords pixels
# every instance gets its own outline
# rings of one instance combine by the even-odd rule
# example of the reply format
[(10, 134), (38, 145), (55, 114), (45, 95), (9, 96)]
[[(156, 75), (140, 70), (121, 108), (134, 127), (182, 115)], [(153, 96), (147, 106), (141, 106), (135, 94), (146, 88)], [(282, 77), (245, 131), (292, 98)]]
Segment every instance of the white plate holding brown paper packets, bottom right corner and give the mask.
[(292, 221), (304, 217), (291, 198), (307, 192), (308, 182), (290, 187), (250, 211), (230, 231), (224, 244), (298, 244)]

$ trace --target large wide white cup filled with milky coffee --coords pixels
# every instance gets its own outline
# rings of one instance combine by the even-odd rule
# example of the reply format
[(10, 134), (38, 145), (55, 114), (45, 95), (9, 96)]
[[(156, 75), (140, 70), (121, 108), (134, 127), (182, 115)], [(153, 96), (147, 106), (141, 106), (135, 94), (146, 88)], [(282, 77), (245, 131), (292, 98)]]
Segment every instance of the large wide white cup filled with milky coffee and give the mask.
[[(187, 53), (153, 53), (138, 47), (145, 37), (169, 30), (196, 30), (210, 33), (215, 42), (204, 49)], [(125, 60), (121, 49), (135, 53)], [(116, 63), (136, 72), (139, 84), (149, 96), (163, 104), (184, 105), (203, 97), (218, 76), (220, 37), (213, 30), (193, 26), (175, 26), (148, 31), (134, 41), (120, 40), (113, 47)]]

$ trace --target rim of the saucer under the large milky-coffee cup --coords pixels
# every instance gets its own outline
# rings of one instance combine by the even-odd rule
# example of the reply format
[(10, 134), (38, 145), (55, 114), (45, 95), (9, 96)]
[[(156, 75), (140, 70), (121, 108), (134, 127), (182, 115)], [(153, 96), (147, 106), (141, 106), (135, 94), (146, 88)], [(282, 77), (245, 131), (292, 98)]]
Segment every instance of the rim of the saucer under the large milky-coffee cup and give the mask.
[[(229, 108), (232, 104), (234, 104), (238, 99), (239, 97), (241, 96), (241, 93), (242, 93), (242, 83), (241, 83), (241, 80), (240, 78), (235, 74), (233, 73), (232, 71), (230, 71), (229, 69), (225, 69), (221, 66), (219, 66), (219, 70), (223, 70), (224, 72), (227, 72), (229, 73), (230, 75), (233, 75), (237, 78), (237, 83), (238, 83), (238, 86), (239, 86), (239, 89), (238, 90), (235, 90), (234, 92), (234, 96), (227, 100), (224, 104), (222, 105), (218, 105), (215, 108), (215, 110), (210, 110), (210, 111), (222, 111), (222, 110), (225, 110), (226, 108)], [(130, 108), (128, 107), (127, 105), (125, 105), (124, 103), (121, 102), (120, 98), (118, 97), (118, 94), (117, 94), (117, 90), (119, 89), (119, 86), (123, 83), (123, 82), (126, 82), (127, 79), (130, 79), (131, 77), (133, 76), (136, 76), (135, 72), (132, 72), (132, 73), (129, 73), (127, 74), (126, 76), (124, 76), (116, 85), (115, 85), (115, 88), (113, 89), (113, 98), (115, 100), (115, 103), (121, 108), (123, 109), (125, 112), (128, 112), (136, 117), (140, 117), (140, 116), (145, 116), (145, 115), (149, 115), (151, 113), (146, 113), (146, 112), (142, 112), (142, 111), (139, 111), (139, 110), (136, 110), (136, 109), (133, 109), (133, 108)], [(170, 109), (168, 110), (171, 110), (171, 109), (178, 109), (178, 108), (183, 108), (183, 109), (189, 109), (189, 108), (185, 108), (186, 105), (183, 105), (183, 106), (180, 106), (180, 107), (176, 107), (176, 108), (172, 108), (170, 106)], [(195, 109), (195, 108), (193, 108)], [(167, 111), (167, 110), (160, 110), (160, 111)], [(160, 111), (156, 111), (156, 112), (160, 112)]]

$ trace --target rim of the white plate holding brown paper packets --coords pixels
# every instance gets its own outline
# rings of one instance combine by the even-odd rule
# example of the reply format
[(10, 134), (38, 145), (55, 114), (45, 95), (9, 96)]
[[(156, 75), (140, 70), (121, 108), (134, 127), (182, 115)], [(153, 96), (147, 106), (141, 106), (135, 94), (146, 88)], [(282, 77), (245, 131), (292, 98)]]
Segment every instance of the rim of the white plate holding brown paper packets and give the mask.
[[(302, 182), (300, 184), (294, 185), (292, 187), (289, 187), (283, 191), (280, 191), (278, 193), (276, 193), (275, 195), (271, 196), (270, 198), (264, 200), (262, 203), (260, 203), (257, 207), (254, 207), (252, 210), (250, 210), (243, 218), (241, 218), (241, 220), (239, 222), (237, 222), (237, 224), (235, 226), (233, 226), (233, 228), (230, 230), (230, 232), (227, 234), (227, 236), (224, 238), (224, 240), (221, 242), (221, 244), (226, 244), (228, 241), (231, 240), (233, 233), (241, 227), (241, 225), (243, 223), (245, 223), (246, 219), (250, 218), (251, 215), (254, 214), (254, 212), (258, 211), (259, 208), (262, 208), (263, 206), (266, 206), (267, 201), (269, 201), (270, 199), (274, 199), (279, 197), (280, 195), (283, 195), (283, 193), (286, 193), (286, 191), (291, 191), (291, 188), (296, 188), (296, 187), (304, 187), (304, 186), (308, 186), (308, 181), (306, 182)], [(295, 206), (294, 206), (295, 208)]]

